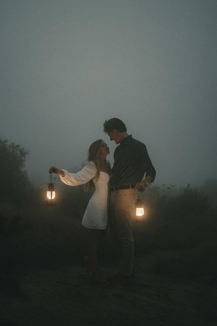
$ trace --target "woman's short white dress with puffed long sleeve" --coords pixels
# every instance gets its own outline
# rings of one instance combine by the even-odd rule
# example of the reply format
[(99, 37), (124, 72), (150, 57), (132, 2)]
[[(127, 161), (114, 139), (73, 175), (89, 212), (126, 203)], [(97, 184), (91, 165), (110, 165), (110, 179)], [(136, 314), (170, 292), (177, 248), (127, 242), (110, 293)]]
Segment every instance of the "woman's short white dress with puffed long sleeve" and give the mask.
[(89, 180), (93, 180), (95, 191), (88, 202), (84, 213), (82, 225), (90, 229), (107, 229), (108, 227), (108, 208), (110, 200), (110, 175), (100, 171), (100, 176), (96, 182), (96, 165), (94, 162), (86, 162), (85, 167), (77, 173), (65, 173), (60, 176), (62, 182), (66, 185), (83, 185)]

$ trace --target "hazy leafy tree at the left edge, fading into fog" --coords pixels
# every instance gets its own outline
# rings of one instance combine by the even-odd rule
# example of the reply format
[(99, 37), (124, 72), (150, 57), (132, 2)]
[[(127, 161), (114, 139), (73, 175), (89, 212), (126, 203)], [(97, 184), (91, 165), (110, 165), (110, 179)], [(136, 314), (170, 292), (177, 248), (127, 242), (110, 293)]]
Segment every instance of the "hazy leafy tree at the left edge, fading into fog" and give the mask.
[(0, 201), (18, 202), (29, 187), (27, 172), (24, 170), (29, 152), (15, 143), (0, 139)]

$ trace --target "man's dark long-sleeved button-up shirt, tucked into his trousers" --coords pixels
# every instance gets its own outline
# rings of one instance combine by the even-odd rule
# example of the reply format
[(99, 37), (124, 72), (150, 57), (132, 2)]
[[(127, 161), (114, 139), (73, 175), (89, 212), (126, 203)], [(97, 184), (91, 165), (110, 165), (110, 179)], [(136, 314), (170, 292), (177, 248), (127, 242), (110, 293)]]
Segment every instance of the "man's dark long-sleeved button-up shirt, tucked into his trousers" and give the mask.
[(132, 135), (124, 138), (115, 148), (111, 186), (136, 185), (150, 175), (154, 181), (156, 171), (152, 165), (146, 146)]

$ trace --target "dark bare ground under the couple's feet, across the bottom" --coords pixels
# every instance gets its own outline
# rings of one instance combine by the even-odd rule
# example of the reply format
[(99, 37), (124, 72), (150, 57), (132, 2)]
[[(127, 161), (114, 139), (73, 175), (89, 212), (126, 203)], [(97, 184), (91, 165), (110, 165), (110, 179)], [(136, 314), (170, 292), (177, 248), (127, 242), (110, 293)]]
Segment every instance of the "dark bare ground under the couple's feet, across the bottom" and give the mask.
[[(32, 268), (14, 275), (11, 287), (0, 293), (0, 324), (217, 325), (217, 289), (147, 273), (145, 261), (145, 257), (135, 259), (136, 279), (130, 287), (90, 284), (78, 264)], [(118, 271), (115, 264), (100, 267), (105, 278)]]

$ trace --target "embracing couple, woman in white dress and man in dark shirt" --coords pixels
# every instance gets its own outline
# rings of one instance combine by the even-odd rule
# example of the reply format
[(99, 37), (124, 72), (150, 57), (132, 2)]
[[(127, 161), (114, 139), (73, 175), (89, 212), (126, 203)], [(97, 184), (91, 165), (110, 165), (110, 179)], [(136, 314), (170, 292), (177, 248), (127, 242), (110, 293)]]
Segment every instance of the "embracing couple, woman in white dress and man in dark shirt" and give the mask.
[(110, 141), (119, 144), (115, 149), (113, 168), (106, 160), (110, 153), (109, 147), (100, 139), (90, 145), (88, 160), (81, 171), (69, 173), (51, 166), (49, 172), (59, 174), (66, 185), (86, 184), (86, 190), (90, 190), (91, 186), (95, 188), (82, 220), (82, 225), (91, 231), (89, 253), (82, 260), (82, 265), (86, 266), (91, 281), (104, 282), (98, 267), (97, 250), (109, 226), (118, 248), (121, 268), (118, 274), (108, 277), (107, 282), (128, 285), (135, 277), (132, 236), (135, 188), (143, 192), (154, 181), (156, 171), (145, 145), (128, 135), (120, 119), (106, 120), (103, 131), (108, 134)]

